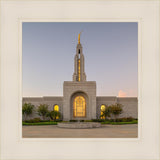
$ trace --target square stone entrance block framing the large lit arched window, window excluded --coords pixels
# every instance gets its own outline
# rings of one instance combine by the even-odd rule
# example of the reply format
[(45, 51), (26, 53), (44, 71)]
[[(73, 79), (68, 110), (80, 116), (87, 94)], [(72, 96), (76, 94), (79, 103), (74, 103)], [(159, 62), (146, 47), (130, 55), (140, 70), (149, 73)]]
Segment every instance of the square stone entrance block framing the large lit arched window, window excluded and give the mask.
[[(73, 117), (73, 99), (83, 95), (86, 99), (86, 117)], [(70, 119), (96, 119), (96, 82), (64, 82), (63, 84), (63, 118)]]

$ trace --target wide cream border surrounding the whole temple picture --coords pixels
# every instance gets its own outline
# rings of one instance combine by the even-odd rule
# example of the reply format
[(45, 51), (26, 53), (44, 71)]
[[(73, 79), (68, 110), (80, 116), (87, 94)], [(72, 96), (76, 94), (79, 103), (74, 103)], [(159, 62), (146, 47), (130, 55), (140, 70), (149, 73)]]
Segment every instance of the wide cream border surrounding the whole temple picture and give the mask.
[[(36, 4), (36, 5), (35, 5)], [(43, 5), (46, 9), (46, 12), (45, 13), (45, 16), (41, 13), (41, 10), (43, 10)], [(104, 17), (101, 17), (100, 15), (94, 15), (93, 17), (93, 8), (96, 9), (95, 7), (96, 6), (101, 6), (102, 7), (102, 4), (109, 10), (109, 11), (104, 11), (106, 12), (104, 15), (106, 16), (106, 14), (109, 12), (110, 13), (110, 16), (104, 16)], [(2, 5), (2, 20), (1, 20), (1, 23), (2, 23), (2, 49), (1, 49), (1, 53), (2, 53), (2, 56), (1, 56), (1, 67), (2, 67), (2, 70), (1, 70), (1, 98), (2, 98), (2, 101), (1, 101), (1, 109), (2, 109), (2, 112), (3, 114), (1, 114), (1, 122), (2, 122), (2, 130), (1, 130), (1, 146), (2, 146), (2, 149), (1, 149), (1, 158), (2, 159), (142, 159), (142, 158), (145, 158), (145, 159), (159, 159), (159, 143), (156, 143), (156, 141), (158, 140), (159, 142), (159, 136), (158, 136), (158, 132), (159, 132), (159, 127), (158, 127), (158, 124), (159, 124), (159, 38), (158, 36), (156, 36), (156, 33), (159, 33), (159, 17), (154, 17), (157, 15), (157, 12), (159, 12), (159, 2), (158, 1), (43, 1), (43, 0), (40, 0), (40, 1), (2, 1), (1, 2), (1, 5)], [(81, 9), (85, 8), (86, 5), (87, 5), (87, 9), (89, 9), (90, 12), (92, 12), (92, 14), (90, 15), (82, 15), (80, 16), (79, 13), (76, 12), (75, 15), (72, 15), (71, 13), (74, 13), (74, 7), (73, 6), (78, 6), (80, 7)], [(96, 6), (95, 6), (96, 5)], [(127, 7), (125, 7), (125, 5), (127, 5)], [(22, 10), (19, 6), (23, 6), (24, 9), (25, 7), (28, 7), (28, 11), (26, 12), (25, 10)], [(54, 6), (56, 6), (57, 9), (54, 8)], [(70, 7), (72, 6), (71, 10), (69, 9), (66, 9), (66, 6), (67, 7)], [(91, 7), (90, 7), (91, 6)], [(117, 6), (119, 7), (124, 7), (124, 10), (122, 9), (119, 9), (121, 10), (122, 15), (119, 15), (119, 11), (117, 11), (117, 13), (115, 12), (115, 8), (117, 8)], [(133, 9), (134, 8), (134, 12), (131, 10), (128, 10), (128, 6), (129, 8)], [(15, 7), (15, 8), (14, 8)], [(66, 15), (62, 14), (62, 9), (61, 7), (65, 10)], [(93, 8), (92, 8), (93, 7)], [(110, 7), (113, 9), (111, 10)], [(56, 11), (52, 11), (53, 8), (56, 10)], [(103, 7), (102, 7), (103, 8)], [(141, 8), (145, 14), (143, 15), (143, 13), (135, 13), (135, 9), (136, 8)], [(10, 10), (9, 10), (10, 9)], [(147, 10), (146, 10), (147, 9)], [(153, 9), (156, 9), (156, 11)], [(32, 11), (32, 14), (29, 13), (29, 11)], [(48, 10), (48, 11), (47, 11)], [(8, 14), (6, 14), (8, 11)], [(39, 11), (39, 12), (38, 12)], [(59, 12), (61, 11), (61, 12)], [(113, 12), (112, 12), (113, 11)], [(140, 11), (140, 10), (138, 10)], [(147, 11), (147, 12), (146, 12)], [(52, 14), (54, 12), (57, 12), (56, 16), (53, 16)], [(146, 14), (147, 13), (152, 13), (151, 15), (151, 18), (147, 18)], [(52, 13), (52, 14), (51, 14)], [(87, 12), (86, 12), (87, 13)], [(124, 13), (129, 13), (128, 15), (125, 15), (124, 16)], [(90, 16), (90, 18), (88, 17)], [(56, 17), (56, 18), (55, 18)], [(74, 17), (74, 18), (73, 18)], [(76, 18), (75, 18), (76, 17)], [(111, 17), (111, 18), (110, 18)], [(119, 17), (119, 18), (116, 18), (116, 17)], [(153, 133), (156, 138), (156, 141), (155, 139), (153, 141), (149, 141), (146, 139), (146, 135), (145, 135), (145, 129), (144, 127), (142, 127), (142, 125), (145, 125), (146, 126), (146, 123), (145, 123), (145, 120), (143, 118), (143, 115), (142, 115), (142, 110), (143, 110), (143, 113), (146, 113), (146, 110), (149, 111), (148, 109), (145, 110), (145, 108), (143, 107), (145, 101), (147, 101), (147, 99), (145, 99), (144, 101), (144, 98), (143, 96), (145, 96), (145, 93), (144, 90), (146, 88), (146, 86), (144, 87), (144, 84), (145, 83), (145, 74), (147, 74), (147, 72), (144, 70), (146, 69), (147, 70), (147, 66), (146, 64), (142, 61), (143, 59), (145, 60), (145, 58), (147, 56), (145, 56), (145, 52), (146, 51), (146, 46), (145, 46), (145, 43), (141, 43), (141, 38), (143, 41), (145, 41), (146, 39), (144, 39), (145, 35), (146, 35), (146, 32), (145, 32), (145, 26), (146, 26), (146, 22), (150, 22), (150, 20), (152, 18), (155, 18), (153, 19), (153, 22), (156, 24), (158, 24), (157, 26), (154, 26), (151, 25), (151, 28), (153, 27), (155, 30), (150, 33), (151, 34), (151, 37), (153, 38), (154, 42), (155, 42), (155, 46), (156, 49), (154, 50), (152, 46), (150, 46), (150, 49), (152, 51), (154, 51), (153, 53), (153, 57), (154, 57), (154, 60), (151, 58), (151, 59), (148, 59), (150, 60), (151, 62), (151, 68), (152, 68), (152, 71), (153, 71), (153, 75), (154, 75), (154, 78), (156, 77), (157, 79), (155, 80), (150, 80), (150, 81), (154, 81), (155, 83), (155, 88), (154, 88), (154, 91), (151, 90), (151, 88), (149, 88), (149, 90), (151, 90), (153, 93), (154, 93), (154, 96), (155, 96), (155, 103), (152, 101), (151, 103), (155, 104), (154, 105), (154, 109), (156, 110), (156, 112), (153, 112), (153, 116), (151, 116), (152, 118), (155, 118), (152, 122), (155, 122), (155, 126), (152, 128), (152, 129), (155, 129), (157, 130), (157, 132), (154, 132)], [(149, 19), (149, 20), (147, 20)], [(158, 22), (156, 22), (156, 20), (158, 20)], [(138, 102), (139, 102), (139, 108), (138, 108), (138, 117), (139, 117), (139, 127), (138, 127), (138, 135), (139, 135), (139, 138), (97, 138), (97, 139), (86, 139), (86, 138), (83, 138), (83, 139), (72, 139), (72, 138), (67, 138), (67, 139), (56, 139), (56, 138), (40, 138), (40, 139), (37, 139), (37, 138), (21, 138), (21, 129), (22, 129), (22, 126), (21, 126), (21, 96), (22, 96), (22, 90), (21, 90), (21, 86), (22, 86), (22, 41), (21, 41), (21, 35), (22, 35), (22, 22), (55, 22), (55, 21), (59, 21), (59, 22), (91, 22), (91, 21), (99, 21), (99, 22), (138, 22)], [(6, 27), (7, 24), (13, 24), (13, 28), (14, 31), (16, 31), (16, 34), (11, 34), (11, 32), (8, 30), (10, 27)], [(16, 28), (17, 27), (17, 28)], [(7, 28), (7, 29), (6, 29)], [(10, 35), (8, 35), (9, 33), (11, 34), (11, 40), (7, 39)], [(18, 33), (19, 31), (19, 33)], [(142, 32), (141, 32), (142, 31)], [(154, 34), (154, 35), (153, 35)], [(19, 35), (19, 36), (18, 36)], [(16, 38), (16, 36), (18, 38)], [(13, 42), (13, 40), (16, 39), (16, 42)], [(19, 39), (19, 40), (18, 40)], [(18, 40), (18, 41), (17, 41)], [(10, 50), (7, 48), (7, 45), (6, 45), (6, 42), (9, 43), (13, 50)], [(14, 45), (12, 44), (14, 43)], [(152, 42), (151, 42), (152, 43)], [(148, 43), (149, 45), (149, 43)], [(12, 56), (12, 53), (14, 56)], [(18, 53), (18, 54), (17, 54)], [(149, 54), (149, 53), (147, 53)], [(150, 54), (149, 54), (150, 55)], [(13, 64), (12, 62), (10, 61), (10, 58), (13, 60)], [(7, 62), (7, 63), (6, 63)], [(10, 63), (8, 63), (10, 62)], [(155, 64), (153, 63), (155, 62)], [(143, 64), (144, 63), (144, 64)], [(13, 70), (11, 70), (11, 67), (13, 67)], [(17, 70), (17, 68), (19, 68), (19, 70)], [(5, 71), (8, 71), (8, 72), (5, 72)], [(148, 70), (147, 70), (148, 71)], [(8, 73), (8, 74), (5, 74), (5, 73)], [(16, 77), (13, 82), (10, 82), (9, 79), (10, 77), (13, 78), (13, 75), (12, 74), (15, 74), (15, 75), (18, 75), (18, 77)], [(152, 74), (151, 74), (152, 75)], [(15, 83), (15, 80), (18, 80), (18, 86), (19, 86), (19, 90), (17, 91), (17, 83)], [(10, 90), (9, 87), (7, 87), (7, 84), (12, 83), (12, 84), (16, 84), (14, 87), (11, 87), (13, 90), (12, 90), (12, 93), (11, 94), (7, 94), (7, 93), (10, 93), (8, 92)], [(143, 82), (143, 83), (142, 83)], [(156, 87), (158, 87), (158, 89), (156, 89)], [(16, 93), (16, 94), (15, 94)], [(14, 106), (16, 107), (15, 104), (17, 104), (17, 109), (15, 110), (12, 110), (12, 114), (14, 114), (14, 116), (12, 116), (11, 114), (7, 115), (7, 112), (9, 112), (10, 108), (9, 108), (9, 104), (11, 103), (8, 103), (7, 102), (7, 98), (8, 96), (10, 97), (10, 100), (12, 101), (13, 98), (15, 98), (13, 96), (13, 94), (15, 94), (16, 96), (16, 102), (14, 103)], [(151, 96), (151, 95), (150, 95)], [(13, 98), (12, 98), (13, 97)], [(142, 102), (143, 100), (143, 102)], [(14, 100), (13, 100), (14, 101)], [(5, 108), (6, 107), (6, 108)], [(18, 112), (16, 112), (18, 111)], [(2, 113), (1, 112), (1, 113)], [(18, 115), (17, 115), (18, 114)], [(148, 113), (147, 113), (148, 114)], [(10, 126), (10, 121), (6, 118), (6, 117), (15, 117), (15, 120), (13, 120), (13, 126)], [(18, 117), (18, 118), (16, 118)], [(4, 123), (5, 122), (5, 123)], [(4, 125), (5, 124), (5, 125)], [(8, 125), (9, 127), (8, 127)], [(18, 124), (16, 126), (16, 124)], [(152, 124), (149, 124), (148, 123), (148, 126), (146, 126), (147, 128), (149, 127), (149, 125), (152, 125)], [(156, 128), (155, 128), (156, 127)], [(150, 127), (149, 127), (150, 128)], [(16, 130), (15, 130), (16, 129)], [(7, 133), (7, 131), (13, 131), (13, 135), (10, 134), (12, 132), (9, 132)], [(148, 130), (149, 132), (149, 130)], [(146, 141), (145, 141), (146, 140)], [(148, 143), (147, 143), (148, 141)], [(118, 142), (118, 144), (117, 144)], [(151, 144), (151, 146), (146, 146), (146, 144)], [(154, 146), (153, 146), (153, 144)], [(56, 145), (55, 145), (56, 144)], [(64, 146), (66, 146), (67, 148), (64, 149), (64, 147), (62, 147), (63, 144)], [(99, 146), (99, 144), (101, 144)], [(130, 147), (126, 147), (126, 145), (132, 145)], [(12, 145), (12, 148), (9, 147)], [(41, 147), (42, 145), (44, 146), (47, 146), (47, 149), (48, 151), (44, 148), (44, 147)], [(77, 152), (75, 150), (76, 147), (72, 147), (72, 146), (76, 146), (77, 148), (81, 148), (81, 150), (79, 150), (79, 152)], [(116, 145), (116, 146), (115, 146)], [(56, 146), (56, 148), (55, 148)], [(90, 151), (87, 151), (86, 152), (86, 149), (87, 149), (87, 146), (88, 147), (91, 147), (91, 150)], [(98, 146), (98, 148), (97, 148)], [(135, 147), (136, 146), (136, 147)], [(143, 149), (143, 154), (142, 153), (138, 153), (138, 151), (141, 151), (142, 152), (142, 149), (141, 147), (144, 147)], [(104, 150), (104, 148), (106, 148)], [(108, 148), (109, 147), (109, 148)], [(113, 147), (115, 150), (113, 150)], [(119, 151), (116, 149), (116, 147), (119, 147)], [(52, 149), (51, 149), (52, 148)], [(63, 155), (61, 150), (60, 149), (63, 149)], [(86, 149), (84, 149), (86, 148)], [(112, 149), (110, 149), (112, 148)], [(126, 154), (124, 154), (124, 151), (123, 149), (126, 148)], [(128, 150), (127, 148), (130, 148), (130, 150)], [(134, 149), (133, 149), (134, 148)], [(37, 152), (39, 149), (41, 149), (41, 152)], [(73, 153), (71, 154), (71, 152), (69, 152), (70, 150), (69, 149), (72, 149), (73, 150)], [(84, 150), (83, 150), (84, 149)], [(138, 149), (136, 151), (136, 149)], [(14, 150), (14, 151), (13, 151)], [(16, 151), (18, 150), (18, 151)], [(29, 153), (26, 152), (25, 150), (30, 150)], [(53, 150), (56, 151), (53, 152)], [(67, 150), (68, 152), (66, 152), (65, 150)], [(105, 152), (102, 152), (102, 151), (105, 151)], [(97, 153), (95, 153), (95, 151)], [(133, 151), (136, 151), (135, 154), (133, 154)], [(43, 153), (44, 152), (44, 153)], [(115, 153), (117, 155), (115, 155)], [(83, 155), (82, 155), (83, 154)], [(123, 154), (123, 155), (122, 155)], [(131, 157), (132, 156), (132, 157)]]

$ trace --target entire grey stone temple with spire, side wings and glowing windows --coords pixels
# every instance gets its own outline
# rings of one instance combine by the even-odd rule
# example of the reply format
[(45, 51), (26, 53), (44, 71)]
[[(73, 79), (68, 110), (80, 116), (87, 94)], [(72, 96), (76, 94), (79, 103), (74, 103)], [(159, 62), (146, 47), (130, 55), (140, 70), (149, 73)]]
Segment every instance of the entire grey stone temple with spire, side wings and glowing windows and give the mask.
[[(78, 44), (74, 57), (73, 81), (64, 81), (63, 97), (23, 97), (23, 104), (31, 103), (37, 107), (39, 104), (48, 104), (50, 110), (61, 112), (64, 121), (91, 120), (102, 118), (102, 110), (107, 105), (120, 103), (123, 113), (120, 117), (138, 118), (137, 97), (97, 96), (96, 81), (87, 81), (85, 73), (85, 58), (83, 47), (78, 35)], [(32, 115), (30, 118), (35, 118)]]

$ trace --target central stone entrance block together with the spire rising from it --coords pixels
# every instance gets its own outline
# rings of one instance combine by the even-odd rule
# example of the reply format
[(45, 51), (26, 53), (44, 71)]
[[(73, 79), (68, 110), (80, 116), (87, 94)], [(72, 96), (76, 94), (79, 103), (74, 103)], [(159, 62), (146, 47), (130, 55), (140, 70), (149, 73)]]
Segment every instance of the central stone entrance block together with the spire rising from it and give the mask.
[(86, 81), (80, 34), (74, 57), (73, 81), (63, 83), (62, 110), (65, 121), (96, 119), (96, 82)]

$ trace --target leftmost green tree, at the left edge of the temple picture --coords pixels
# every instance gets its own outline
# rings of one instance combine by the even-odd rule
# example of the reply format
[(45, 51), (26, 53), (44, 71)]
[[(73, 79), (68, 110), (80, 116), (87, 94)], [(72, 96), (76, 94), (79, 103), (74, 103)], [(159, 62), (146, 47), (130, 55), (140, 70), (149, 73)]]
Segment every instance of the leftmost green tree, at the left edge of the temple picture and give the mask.
[(22, 114), (24, 116), (24, 120), (28, 118), (33, 113), (34, 105), (31, 103), (24, 103), (22, 107)]

